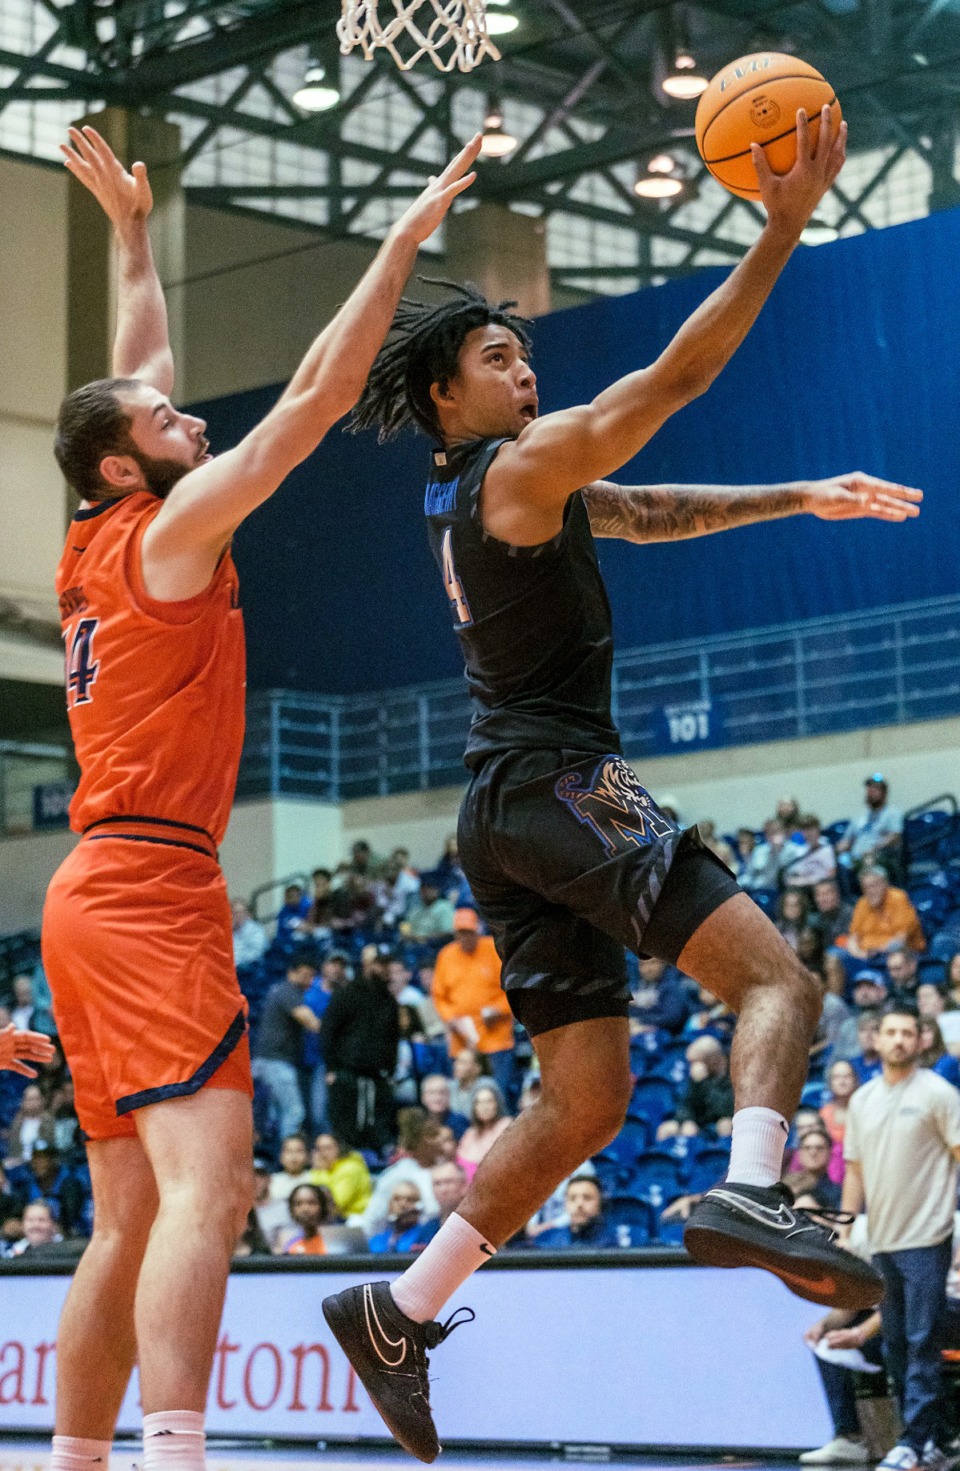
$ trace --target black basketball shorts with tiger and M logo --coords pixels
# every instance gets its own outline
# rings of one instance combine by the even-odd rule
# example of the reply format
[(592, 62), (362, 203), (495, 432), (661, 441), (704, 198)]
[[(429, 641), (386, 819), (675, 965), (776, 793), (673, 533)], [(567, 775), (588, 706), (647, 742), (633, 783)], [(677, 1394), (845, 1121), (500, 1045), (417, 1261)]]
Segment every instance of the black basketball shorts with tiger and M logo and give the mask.
[(739, 887), (681, 831), (622, 756), (494, 755), (475, 772), (457, 830), (460, 863), (531, 1036), (626, 1016), (623, 950), (675, 964)]

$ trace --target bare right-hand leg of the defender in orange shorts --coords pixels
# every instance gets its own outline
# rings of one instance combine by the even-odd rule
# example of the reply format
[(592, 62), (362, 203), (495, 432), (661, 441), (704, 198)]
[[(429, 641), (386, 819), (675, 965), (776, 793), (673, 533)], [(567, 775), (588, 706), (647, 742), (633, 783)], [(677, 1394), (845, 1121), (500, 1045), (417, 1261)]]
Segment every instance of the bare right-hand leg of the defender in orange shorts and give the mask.
[[(135, 1300), (144, 1415), (203, 1415), (229, 1262), (253, 1199), (250, 1096), (206, 1087), (138, 1109), (159, 1194)], [(147, 1462), (150, 1446), (146, 1445)]]

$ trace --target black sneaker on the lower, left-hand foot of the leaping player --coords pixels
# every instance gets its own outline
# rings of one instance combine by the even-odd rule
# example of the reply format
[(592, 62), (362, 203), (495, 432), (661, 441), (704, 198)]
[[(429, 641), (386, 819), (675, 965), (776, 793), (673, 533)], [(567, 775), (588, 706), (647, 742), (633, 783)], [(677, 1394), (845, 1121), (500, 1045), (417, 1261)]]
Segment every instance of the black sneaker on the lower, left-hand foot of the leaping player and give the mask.
[[(469, 1314), (459, 1318), (459, 1314)], [(470, 1322), (459, 1308), (447, 1322), (413, 1322), (393, 1299), (390, 1283), (347, 1287), (323, 1302), (334, 1337), (353, 1364), (391, 1436), (418, 1461), (435, 1461), (440, 1440), (429, 1408), (428, 1349)]]

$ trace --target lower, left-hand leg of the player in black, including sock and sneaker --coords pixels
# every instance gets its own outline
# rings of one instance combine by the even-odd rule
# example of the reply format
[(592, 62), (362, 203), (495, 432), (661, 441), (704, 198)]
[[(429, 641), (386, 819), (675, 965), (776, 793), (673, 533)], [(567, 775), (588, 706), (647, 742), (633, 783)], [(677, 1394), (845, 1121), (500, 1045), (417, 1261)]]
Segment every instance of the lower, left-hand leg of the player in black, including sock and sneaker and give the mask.
[[(544, 1019), (551, 1003), (556, 996), (545, 996)], [(376, 1409), (420, 1461), (434, 1461), (440, 1452), (426, 1350), (443, 1342), (456, 1314), (445, 1327), (434, 1319), (451, 1293), (623, 1122), (632, 1086), (626, 1006), (619, 999), (604, 1003), (600, 993), (592, 1009), (604, 1006), (622, 1014), (550, 1025), (534, 1036), (541, 1066), (538, 1102), (497, 1140), (463, 1203), (398, 1283), (393, 1289), (388, 1283), (347, 1289), (323, 1303), (326, 1321)], [(570, 1012), (576, 1009), (573, 997)], [(535, 1028), (531, 1012), (528, 1018)], [(551, 1019), (557, 1019), (556, 1006)]]

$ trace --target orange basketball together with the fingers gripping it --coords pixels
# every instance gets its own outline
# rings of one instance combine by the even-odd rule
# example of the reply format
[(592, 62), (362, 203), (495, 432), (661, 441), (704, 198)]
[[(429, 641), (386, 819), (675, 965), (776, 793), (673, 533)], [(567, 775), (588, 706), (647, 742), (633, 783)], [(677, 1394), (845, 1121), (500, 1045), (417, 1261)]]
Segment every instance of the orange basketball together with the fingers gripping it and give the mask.
[(800, 196), (819, 187), (807, 218), (844, 165), (847, 125), (837, 93), (814, 66), (778, 51), (742, 56), (717, 72), (697, 104), (695, 132), (714, 179), (741, 199), (763, 200), (767, 215), (792, 194), (775, 181), (792, 177), (798, 163), (819, 165), (804, 171), (795, 200), (800, 207)]

